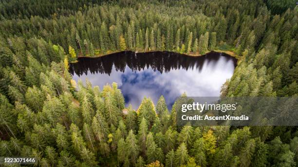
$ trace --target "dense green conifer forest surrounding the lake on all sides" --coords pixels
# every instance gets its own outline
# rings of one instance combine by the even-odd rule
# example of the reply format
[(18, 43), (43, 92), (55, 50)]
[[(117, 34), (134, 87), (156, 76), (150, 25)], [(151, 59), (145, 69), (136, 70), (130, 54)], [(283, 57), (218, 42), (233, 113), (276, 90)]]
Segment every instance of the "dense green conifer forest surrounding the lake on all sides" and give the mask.
[(144, 98), (134, 110), (117, 83), (76, 83), (69, 72), (77, 57), (123, 50), (229, 50), (239, 60), (222, 97), (298, 96), (295, 6), (1, 0), (0, 156), (34, 157), (41, 167), (298, 166), (297, 126), (179, 127), (176, 102), (169, 111), (163, 96)]

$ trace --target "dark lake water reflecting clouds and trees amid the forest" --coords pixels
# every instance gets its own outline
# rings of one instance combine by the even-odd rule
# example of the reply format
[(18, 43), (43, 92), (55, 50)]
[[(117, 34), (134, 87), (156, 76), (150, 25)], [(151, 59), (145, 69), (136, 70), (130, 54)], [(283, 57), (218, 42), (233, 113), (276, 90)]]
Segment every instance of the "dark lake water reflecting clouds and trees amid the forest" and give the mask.
[(78, 58), (70, 65), (73, 79), (86, 78), (101, 89), (118, 83), (126, 106), (134, 109), (144, 97), (157, 104), (161, 95), (170, 109), (176, 97), (217, 97), (226, 79), (231, 78), (237, 60), (224, 53), (210, 52), (192, 57), (173, 52), (119, 52), (98, 58)]

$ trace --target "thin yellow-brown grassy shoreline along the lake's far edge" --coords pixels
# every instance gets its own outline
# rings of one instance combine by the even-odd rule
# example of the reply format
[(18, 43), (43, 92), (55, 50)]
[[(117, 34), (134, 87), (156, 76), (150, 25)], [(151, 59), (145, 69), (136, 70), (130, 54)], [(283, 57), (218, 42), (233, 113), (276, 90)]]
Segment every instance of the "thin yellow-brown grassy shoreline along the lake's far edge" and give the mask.
[[(111, 53), (107, 53), (107, 54), (99, 54), (99, 55), (96, 55), (96, 56), (79, 56), (77, 58), (98, 58), (98, 57), (103, 57), (103, 56), (108, 56), (108, 55), (111, 55), (111, 54), (115, 54), (115, 53), (121, 53), (121, 52), (132, 52), (132, 53), (150, 53), (150, 52), (172, 52), (172, 53), (178, 53), (178, 54), (182, 54), (182, 55), (185, 55), (185, 56), (191, 56), (191, 57), (199, 57), (199, 56), (203, 56), (203, 55), (206, 55), (208, 53), (211, 53), (211, 52), (219, 52), (219, 53), (225, 53), (225, 54), (228, 54), (229, 56), (231, 57), (235, 57), (237, 60), (240, 60), (241, 59), (241, 56), (237, 55), (235, 52), (233, 51), (230, 51), (230, 50), (212, 50), (212, 51), (209, 51), (206, 52), (205, 54), (196, 54), (196, 53), (193, 53), (193, 52), (190, 52), (190, 53), (179, 53), (179, 52), (176, 52), (176, 51), (167, 51), (167, 50), (150, 50), (150, 51), (134, 51), (134, 50), (123, 50), (123, 51), (114, 51), (114, 52), (111, 52)], [(70, 62), (70, 63), (76, 63), (78, 62), (78, 60), (76, 61), (73, 61), (73, 62)]]

